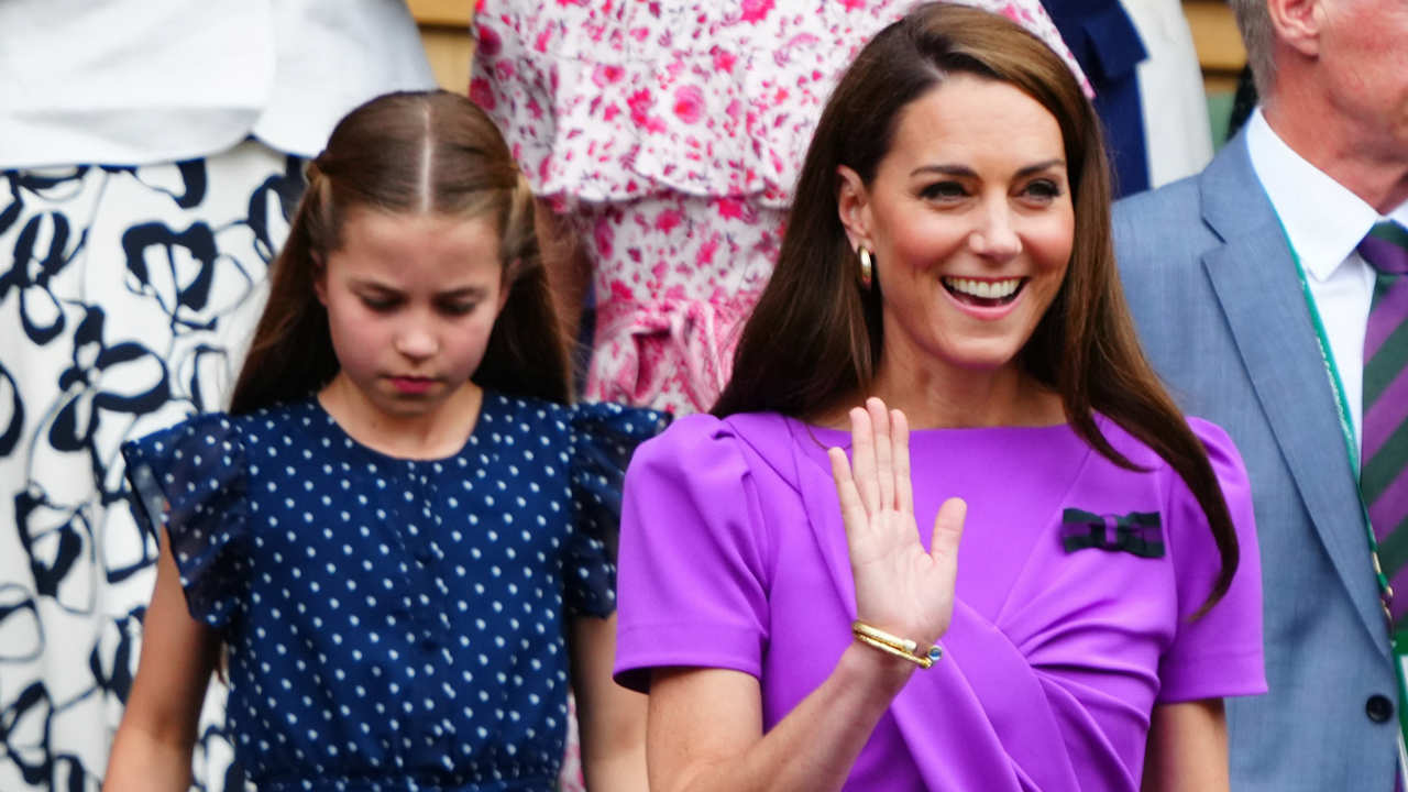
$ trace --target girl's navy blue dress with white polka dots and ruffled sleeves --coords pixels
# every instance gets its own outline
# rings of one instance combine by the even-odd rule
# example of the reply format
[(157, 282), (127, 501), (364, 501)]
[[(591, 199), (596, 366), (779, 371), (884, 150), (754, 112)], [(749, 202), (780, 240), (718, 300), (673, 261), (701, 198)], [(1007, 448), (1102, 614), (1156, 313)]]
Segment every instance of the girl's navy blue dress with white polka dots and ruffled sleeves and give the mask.
[(230, 645), (227, 726), (262, 791), (549, 791), (566, 620), (615, 609), (631, 451), (663, 416), (484, 393), (465, 448), (398, 459), (317, 400), (128, 443), (190, 613)]

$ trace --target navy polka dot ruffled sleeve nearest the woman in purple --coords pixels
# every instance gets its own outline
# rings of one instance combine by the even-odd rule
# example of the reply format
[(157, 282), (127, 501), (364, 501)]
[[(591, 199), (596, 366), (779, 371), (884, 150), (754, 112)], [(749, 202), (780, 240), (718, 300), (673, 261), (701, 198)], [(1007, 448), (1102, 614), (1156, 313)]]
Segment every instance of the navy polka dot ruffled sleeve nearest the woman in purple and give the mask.
[(567, 544), (567, 609), (610, 616), (615, 610), (615, 557), (621, 488), (641, 443), (669, 423), (666, 413), (612, 403), (572, 407), (573, 533)]

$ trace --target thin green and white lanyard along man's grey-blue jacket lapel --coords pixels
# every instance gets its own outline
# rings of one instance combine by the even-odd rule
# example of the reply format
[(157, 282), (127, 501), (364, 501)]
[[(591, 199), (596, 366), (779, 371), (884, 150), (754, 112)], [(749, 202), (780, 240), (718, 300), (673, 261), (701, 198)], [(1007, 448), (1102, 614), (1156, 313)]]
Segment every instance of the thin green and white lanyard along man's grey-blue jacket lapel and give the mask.
[[(1305, 307), (1311, 314), (1311, 324), (1315, 326), (1315, 342), (1319, 345), (1321, 362), (1325, 364), (1325, 373), (1329, 376), (1331, 390), (1335, 393), (1335, 407), (1339, 413), (1339, 431), (1345, 438), (1345, 452), (1349, 455), (1349, 466), (1359, 475), (1359, 438), (1354, 435), (1354, 423), (1349, 413), (1349, 400), (1345, 397), (1345, 380), (1339, 376), (1339, 366), (1335, 365), (1335, 354), (1329, 345), (1329, 335), (1325, 333), (1325, 323), (1321, 320), (1319, 307), (1315, 304), (1315, 296), (1311, 293), (1309, 280), (1305, 278), (1305, 268), (1301, 265), (1301, 256), (1295, 252), (1295, 245), (1291, 244), (1290, 234), (1286, 233), (1286, 225), (1281, 224), (1281, 234), (1286, 235), (1286, 247), (1291, 251), (1291, 261), (1295, 262), (1295, 276), (1301, 280), (1301, 295), (1305, 297)], [(1359, 490), (1359, 482), (1354, 482), (1356, 492)], [(1388, 575), (1384, 574), (1383, 565), (1378, 562), (1378, 537), (1374, 536), (1374, 527), (1369, 523), (1369, 506), (1364, 505), (1363, 496), (1359, 497), (1359, 512), (1364, 519), (1364, 533), (1369, 537), (1369, 557), (1374, 562), (1374, 578), (1378, 581), (1378, 600), (1384, 607), (1384, 619), (1388, 620), (1388, 637), (1390, 648), (1394, 655), (1394, 675), (1398, 679), (1398, 771), (1400, 778), (1408, 779), (1408, 750), (1405, 750), (1405, 736), (1408, 736), (1408, 631), (1395, 633), (1393, 626), (1393, 616), (1388, 610), (1388, 603), (1394, 596), (1393, 588), (1388, 585)], [(1405, 592), (1408, 595), (1408, 592)]]

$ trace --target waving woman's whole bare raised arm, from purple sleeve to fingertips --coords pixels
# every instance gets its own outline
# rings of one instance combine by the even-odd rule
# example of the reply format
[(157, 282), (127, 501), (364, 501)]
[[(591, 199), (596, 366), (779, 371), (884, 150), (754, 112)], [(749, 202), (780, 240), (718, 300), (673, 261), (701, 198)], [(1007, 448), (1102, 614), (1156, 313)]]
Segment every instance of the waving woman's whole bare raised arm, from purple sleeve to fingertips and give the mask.
[[(964, 506), (950, 499), (919, 544), (904, 416), (879, 399), (850, 413), (853, 462), (831, 450), (862, 621), (936, 641), (953, 613)], [(853, 468), (852, 468), (853, 465)], [(658, 668), (646, 754), (652, 792), (825, 792), (845, 784), (915, 665), (859, 643), (791, 713), (763, 733), (758, 679), (727, 669)]]

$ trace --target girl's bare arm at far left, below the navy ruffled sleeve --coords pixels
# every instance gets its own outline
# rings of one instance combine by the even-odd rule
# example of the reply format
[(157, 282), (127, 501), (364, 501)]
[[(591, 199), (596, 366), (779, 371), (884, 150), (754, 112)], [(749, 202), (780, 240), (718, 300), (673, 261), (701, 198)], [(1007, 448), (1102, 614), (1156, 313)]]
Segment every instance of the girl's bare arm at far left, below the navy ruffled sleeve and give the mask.
[(184, 792), (220, 637), (191, 619), (165, 531), (156, 588), (142, 620), (142, 657), (113, 740), (104, 792)]

